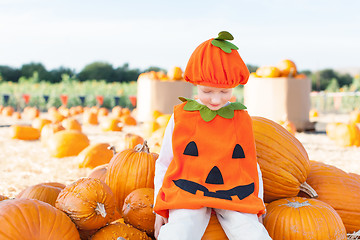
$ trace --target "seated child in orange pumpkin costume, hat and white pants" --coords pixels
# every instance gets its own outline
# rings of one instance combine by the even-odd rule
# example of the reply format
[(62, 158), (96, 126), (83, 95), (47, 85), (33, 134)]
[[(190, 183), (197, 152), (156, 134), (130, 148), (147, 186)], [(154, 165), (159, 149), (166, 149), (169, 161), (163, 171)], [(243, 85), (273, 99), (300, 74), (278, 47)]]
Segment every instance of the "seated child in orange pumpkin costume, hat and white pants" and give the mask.
[(156, 161), (160, 240), (201, 239), (212, 211), (229, 239), (271, 239), (258, 221), (265, 207), (252, 121), (245, 106), (229, 102), (249, 78), (232, 39), (221, 32), (200, 44), (186, 67), (199, 99), (174, 107)]

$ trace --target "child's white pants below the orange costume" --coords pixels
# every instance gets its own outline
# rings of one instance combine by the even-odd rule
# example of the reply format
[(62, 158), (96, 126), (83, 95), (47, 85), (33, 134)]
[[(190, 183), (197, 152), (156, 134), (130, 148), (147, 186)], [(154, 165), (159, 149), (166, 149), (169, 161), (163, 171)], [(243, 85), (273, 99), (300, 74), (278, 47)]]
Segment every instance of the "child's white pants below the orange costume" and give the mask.
[[(271, 239), (256, 214), (214, 209), (229, 240)], [(158, 240), (201, 240), (211, 216), (211, 208), (173, 209), (163, 225)]]

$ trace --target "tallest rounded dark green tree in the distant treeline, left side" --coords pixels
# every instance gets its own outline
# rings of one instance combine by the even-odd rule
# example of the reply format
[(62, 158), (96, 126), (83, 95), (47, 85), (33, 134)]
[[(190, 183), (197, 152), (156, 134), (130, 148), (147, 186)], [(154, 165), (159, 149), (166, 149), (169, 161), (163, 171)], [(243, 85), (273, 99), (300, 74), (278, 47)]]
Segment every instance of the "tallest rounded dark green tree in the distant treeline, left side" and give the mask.
[(86, 65), (77, 77), (80, 81), (105, 80), (106, 82), (113, 82), (116, 75), (115, 70), (110, 63), (93, 62)]

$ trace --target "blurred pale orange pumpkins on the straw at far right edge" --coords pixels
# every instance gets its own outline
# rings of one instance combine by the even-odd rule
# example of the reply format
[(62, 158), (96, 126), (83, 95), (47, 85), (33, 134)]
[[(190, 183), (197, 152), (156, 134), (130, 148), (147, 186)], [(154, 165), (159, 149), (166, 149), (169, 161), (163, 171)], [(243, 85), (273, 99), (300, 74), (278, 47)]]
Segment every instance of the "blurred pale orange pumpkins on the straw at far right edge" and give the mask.
[(354, 109), (349, 114), (349, 122), (331, 122), (326, 125), (326, 135), (338, 146), (360, 147), (360, 110)]

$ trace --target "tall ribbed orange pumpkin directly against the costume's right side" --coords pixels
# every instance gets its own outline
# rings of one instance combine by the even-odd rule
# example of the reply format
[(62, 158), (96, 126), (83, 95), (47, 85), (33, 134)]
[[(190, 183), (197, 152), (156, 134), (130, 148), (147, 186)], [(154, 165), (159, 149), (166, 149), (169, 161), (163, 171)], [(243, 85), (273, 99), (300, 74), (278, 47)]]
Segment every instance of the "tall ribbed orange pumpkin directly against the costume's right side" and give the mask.
[(310, 171), (308, 154), (290, 132), (263, 117), (252, 117), (264, 201), (296, 196)]

